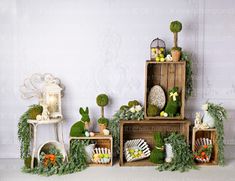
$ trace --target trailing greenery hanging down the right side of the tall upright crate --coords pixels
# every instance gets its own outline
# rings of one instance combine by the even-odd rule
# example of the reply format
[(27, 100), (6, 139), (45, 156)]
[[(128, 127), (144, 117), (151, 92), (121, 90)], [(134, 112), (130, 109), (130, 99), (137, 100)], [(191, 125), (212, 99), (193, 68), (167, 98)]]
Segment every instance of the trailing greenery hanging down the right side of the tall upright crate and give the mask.
[(186, 62), (186, 90), (185, 96), (188, 99), (193, 93), (193, 71), (192, 71), (192, 60), (186, 52), (182, 52), (181, 60)]

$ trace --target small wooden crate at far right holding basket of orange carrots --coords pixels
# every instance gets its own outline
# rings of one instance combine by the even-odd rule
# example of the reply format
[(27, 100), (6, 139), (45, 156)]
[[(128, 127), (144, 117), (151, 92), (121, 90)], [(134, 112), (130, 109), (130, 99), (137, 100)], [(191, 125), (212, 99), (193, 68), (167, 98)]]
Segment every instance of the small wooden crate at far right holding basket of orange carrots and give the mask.
[(193, 128), (192, 151), (195, 151), (195, 142), (198, 138), (209, 138), (212, 140), (212, 155), (209, 163), (197, 163), (200, 165), (218, 165), (218, 144), (216, 141), (216, 129), (196, 129)]

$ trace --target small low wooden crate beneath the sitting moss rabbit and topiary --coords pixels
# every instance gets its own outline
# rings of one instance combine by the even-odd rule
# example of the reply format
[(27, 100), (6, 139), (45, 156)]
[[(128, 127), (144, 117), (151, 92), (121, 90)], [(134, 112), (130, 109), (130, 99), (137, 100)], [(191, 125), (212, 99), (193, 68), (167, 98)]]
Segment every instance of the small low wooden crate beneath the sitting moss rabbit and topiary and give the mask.
[(108, 164), (95, 164), (91, 163), (89, 166), (112, 166), (113, 165), (113, 137), (112, 135), (104, 136), (100, 133), (95, 133), (93, 137), (70, 137), (71, 140), (78, 139), (78, 140), (94, 140), (96, 142), (96, 147), (99, 148), (107, 148), (111, 151), (111, 161)]

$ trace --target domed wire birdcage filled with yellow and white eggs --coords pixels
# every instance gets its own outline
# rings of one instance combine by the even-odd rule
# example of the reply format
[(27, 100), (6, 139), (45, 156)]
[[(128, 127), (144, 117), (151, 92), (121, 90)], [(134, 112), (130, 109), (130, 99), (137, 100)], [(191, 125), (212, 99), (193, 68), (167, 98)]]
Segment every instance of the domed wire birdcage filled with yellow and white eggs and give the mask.
[(150, 59), (152, 61), (164, 62), (166, 54), (166, 44), (160, 38), (154, 39), (150, 44)]

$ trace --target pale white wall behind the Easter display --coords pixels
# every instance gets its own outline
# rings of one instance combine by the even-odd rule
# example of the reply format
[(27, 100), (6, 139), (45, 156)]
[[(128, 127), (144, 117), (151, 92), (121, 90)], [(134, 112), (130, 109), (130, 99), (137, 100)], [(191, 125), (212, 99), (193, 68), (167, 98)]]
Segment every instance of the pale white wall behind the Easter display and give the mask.
[[(170, 48), (175, 19), (183, 23), (179, 45), (194, 58), (188, 117), (207, 99), (223, 103), (230, 113), (225, 141), (235, 144), (233, 0), (0, 0), (0, 157), (19, 156), (18, 118), (36, 102), (20, 99), (26, 77), (49, 72), (65, 84), (67, 140), (80, 106), (98, 118), (98, 93), (111, 97), (109, 117), (130, 99), (143, 102), (149, 44), (160, 37)], [(52, 129), (39, 131), (40, 144)]]

